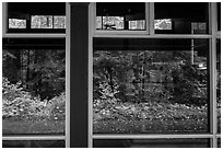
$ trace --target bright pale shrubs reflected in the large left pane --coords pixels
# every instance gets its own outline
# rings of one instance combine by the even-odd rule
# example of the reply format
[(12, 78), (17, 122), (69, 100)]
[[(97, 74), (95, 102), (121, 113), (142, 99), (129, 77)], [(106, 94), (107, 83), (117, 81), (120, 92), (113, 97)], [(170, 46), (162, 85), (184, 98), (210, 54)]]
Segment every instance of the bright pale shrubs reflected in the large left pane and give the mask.
[(7, 78), (2, 78), (2, 117), (13, 117), (16, 119), (64, 119), (66, 95), (60, 95), (51, 100), (42, 101), (32, 96), (21, 88), (21, 82), (10, 83)]

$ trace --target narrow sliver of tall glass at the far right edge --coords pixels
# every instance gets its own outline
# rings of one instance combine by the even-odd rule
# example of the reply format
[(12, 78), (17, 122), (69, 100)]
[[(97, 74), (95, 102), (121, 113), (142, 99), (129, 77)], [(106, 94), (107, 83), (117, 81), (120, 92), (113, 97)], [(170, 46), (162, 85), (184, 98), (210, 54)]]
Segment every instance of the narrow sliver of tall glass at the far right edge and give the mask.
[(216, 111), (218, 132), (221, 132), (221, 39), (216, 41)]

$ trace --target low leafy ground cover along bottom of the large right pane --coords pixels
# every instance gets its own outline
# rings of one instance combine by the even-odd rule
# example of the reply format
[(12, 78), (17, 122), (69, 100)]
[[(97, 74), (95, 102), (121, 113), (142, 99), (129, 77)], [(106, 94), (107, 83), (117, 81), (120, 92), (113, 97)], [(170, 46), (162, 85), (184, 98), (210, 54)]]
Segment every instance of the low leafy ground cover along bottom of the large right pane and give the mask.
[(206, 131), (207, 106), (172, 103), (118, 103), (94, 108), (95, 132)]

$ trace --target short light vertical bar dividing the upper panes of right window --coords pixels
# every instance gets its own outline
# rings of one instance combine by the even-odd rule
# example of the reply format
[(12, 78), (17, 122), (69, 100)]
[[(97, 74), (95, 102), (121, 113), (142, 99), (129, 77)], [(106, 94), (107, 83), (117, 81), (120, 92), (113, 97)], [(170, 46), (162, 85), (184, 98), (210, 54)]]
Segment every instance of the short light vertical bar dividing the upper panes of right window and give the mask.
[(154, 11), (154, 2), (150, 2), (149, 4), (149, 34), (154, 35), (154, 19), (155, 19), (155, 11)]

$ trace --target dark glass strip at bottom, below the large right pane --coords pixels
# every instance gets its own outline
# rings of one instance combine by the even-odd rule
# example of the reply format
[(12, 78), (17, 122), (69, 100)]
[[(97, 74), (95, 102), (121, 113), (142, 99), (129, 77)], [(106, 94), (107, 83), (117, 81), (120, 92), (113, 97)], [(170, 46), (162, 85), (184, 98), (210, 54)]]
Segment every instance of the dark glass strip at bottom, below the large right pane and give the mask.
[(209, 148), (209, 139), (95, 139), (94, 148)]

